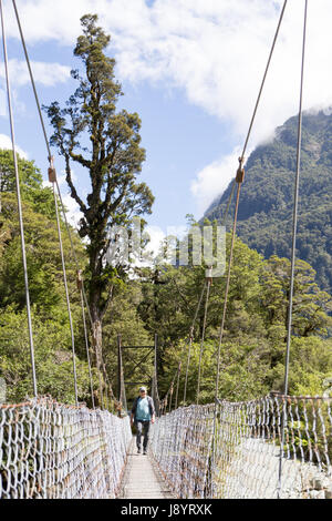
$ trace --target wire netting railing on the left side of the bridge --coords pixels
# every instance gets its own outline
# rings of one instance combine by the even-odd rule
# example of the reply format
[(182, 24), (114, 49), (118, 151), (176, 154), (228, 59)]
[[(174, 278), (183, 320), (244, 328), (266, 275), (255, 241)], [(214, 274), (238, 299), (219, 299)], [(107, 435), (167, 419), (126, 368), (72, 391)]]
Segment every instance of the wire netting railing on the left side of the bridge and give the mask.
[(50, 398), (0, 406), (0, 498), (112, 499), (129, 419)]

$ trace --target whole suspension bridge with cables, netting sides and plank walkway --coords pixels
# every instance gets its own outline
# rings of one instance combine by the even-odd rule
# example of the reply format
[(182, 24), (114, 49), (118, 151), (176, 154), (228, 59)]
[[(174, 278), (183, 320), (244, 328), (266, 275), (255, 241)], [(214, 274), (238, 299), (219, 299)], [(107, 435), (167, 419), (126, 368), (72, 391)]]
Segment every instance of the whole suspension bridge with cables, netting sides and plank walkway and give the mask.
[[(303, 23), (302, 73), (299, 108), (297, 183), (294, 193), (292, 270), (290, 282), (290, 303), (288, 314), (288, 341), (283, 392), (271, 392), (257, 400), (230, 402), (218, 397), (221, 346), (227, 313), (232, 252), (236, 237), (237, 213), (240, 188), (245, 180), (245, 154), (259, 105), (260, 96), (269, 70), (274, 44), (277, 42), (287, 0), (281, 10), (273, 38), (267, 69), (250, 122), (245, 146), (239, 157), (239, 167), (234, 182), (230, 201), (236, 192), (236, 210), (231, 234), (231, 247), (226, 275), (226, 293), (217, 349), (217, 377), (215, 401), (201, 405), (200, 376), (201, 355), (205, 343), (205, 329), (211, 285), (210, 272), (207, 272), (205, 285), (196, 308), (193, 326), (189, 330), (186, 371), (179, 364), (166, 396), (158, 396), (157, 341), (155, 346), (141, 346), (154, 353), (154, 371), (151, 387), (156, 405), (157, 418), (152, 426), (148, 456), (135, 454), (133, 436), (127, 415), (126, 381), (123, 374), (123, 351), (118, 339), (118, 396), (115, 397), (107, 380), (104, 364), (98, 359), (98, 370), (104, 375), (111, 399), (116, 405), (117, 415), (96, 408), (91, 386), (92, 409), (79, 402), (75, 369), (75, 344), (71, 319), (70, 298), (65, 275), (61, 226), (58, 201), (60, 201), (63, 221), (70, 236), (64, 206), (56, 181), (49, 140), (46, 139), (42, 113), (30, 67), (29, 55), (15, 1), (12, 1), (20, 30), (27, 64), (33, 86), (37, 106), (45, 136), (49, 154), (49, 178), (53, 184), (56, 210), (58, 232), (63, 267), (66, 304), (72, 331), (73, 379), (76, 400), (72, 406), (59, 403), (54, 398), (38, 395), (33, 334), (31, 326), (29, 280), (25, 260), (24, 227), (20, 203), (20, 180), (18, 173), (14, 125), (11, 105), (10, 78), (6, 47), (6, 24), (2, 1), (1, 24), (3, 55), (7, 78), (8, 105), (11, 125), (13, 161), (17, 180), (17, 194), (22, 238), (22, 259), (27, 295), (27, 313), (30, 339), (30, 355), (34, 397), (23, 403), (0, 405), (0, 498), (3, 499), (89, 499), (89, 498), (297, 498), (332, 499), (332, 407), (329, 396), (308, 397), (288, 395), (289, 351), (292, 320), (292, 293), (295, 260), (298, 185), (300, 175), (302, 86), (305, 49), (307, 1)], [(237, 188), (237, 191), (236, 191)], [(58, 191), (58, 197), (55, 196)], [(71, 241), (73, 257), (76, 256)], [(84, 292), (84, 280), (77, 267), (77, 290), (81, 295), (82, 317), (85, 334), (86, 354), (90, 345), (85, 309), (89, 303)], [(200, 339), (200, 357), (197, 381), (197, 400), (186, 403), (187, 382), (194, 325), (198, 310), (204, 306), (204, 323)], [(90, 317), (91, 318), (91, 317)], [(137, 347), (137, 346), (136, 346)], [(136, 351), (135, 351), (136, 353)], [(137, 364), (139, 366), (139, 362)], [(179, 382), (184, 380), (184, 397), (179, 397)], [(102, 396), (102, 389), (101, 389)], [(101, 399), (103, 403), (103, 398)]]

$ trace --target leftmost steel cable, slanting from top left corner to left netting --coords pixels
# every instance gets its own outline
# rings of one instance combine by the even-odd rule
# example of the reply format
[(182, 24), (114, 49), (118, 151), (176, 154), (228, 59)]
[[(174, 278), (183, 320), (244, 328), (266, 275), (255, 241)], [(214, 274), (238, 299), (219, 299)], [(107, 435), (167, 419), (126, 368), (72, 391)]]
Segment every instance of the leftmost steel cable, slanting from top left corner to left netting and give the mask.
[(8, 67), (8, 53), (7, 53), (2, 0), (0, 0), (0, 11), (1, 11), (1, 29), (2, 29), (3, 60), (4, 60), (4, 70), (6, 70), (6, 83), (7, 83), (8, 111), (9, 111), (12, 155), (13, 155), (14, 174), (15, 174), (19, 226), (20, 226), (20, 235), (21, 235), (21, 251), (22, 251), (22, 264), (23, 264), (24, 287), (25, 287), (25, 303), (27, 303), (28, 331), (29, 331), (30, 358), (31, 358), (31, 369), (32, 369), (32, 384), (33, 384), (33, 394), (34, 394), (34, 397), (37, 398), (38, 385), (37, 385), (37, 374), (35, 374), (34, 344), (33, 344), (33, 333), (32, 333), (31, 305), (30, 305), (30, 292), (29, 292), (25, 239), (24, 239), (24, 225), (23, 225), (23, 213), (22, 213), (22, 202), (21, 202), (19, 165), (18, 165), (18, 157), (17, 157), (17, 149), (15, 149), (15, 133), (14, 133), (13, 111), (12, 111), (12, 103), (11, 103), (11, 86), (10, 86), (10, 76), (9, 76), (9, 67)]

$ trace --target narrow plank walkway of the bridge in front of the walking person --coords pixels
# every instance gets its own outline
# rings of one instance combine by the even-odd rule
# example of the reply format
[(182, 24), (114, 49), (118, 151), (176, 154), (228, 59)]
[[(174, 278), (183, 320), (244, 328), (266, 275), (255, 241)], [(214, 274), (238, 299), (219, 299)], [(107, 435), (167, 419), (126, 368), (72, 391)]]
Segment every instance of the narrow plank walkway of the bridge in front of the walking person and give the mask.
[(149, 454), (137, 454), (135, 438), (128, 451), (127, 464), (120, 487), (118, 499), (172, 499)]

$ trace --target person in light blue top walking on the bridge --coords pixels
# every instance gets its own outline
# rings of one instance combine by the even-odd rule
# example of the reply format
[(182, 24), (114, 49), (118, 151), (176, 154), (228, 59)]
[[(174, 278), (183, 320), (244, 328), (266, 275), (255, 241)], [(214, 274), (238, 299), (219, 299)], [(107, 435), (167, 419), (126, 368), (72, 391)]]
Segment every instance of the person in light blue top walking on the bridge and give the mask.
[(137, 453), (142, 450), (142, 433), (143, 439), (143, 453), (147, 453), (148, 431), (149, 425), (155, 422), (156, 411), (154, 400), (147, 395), (146, 387), (139, 388), (139, 396), (134, 401), (131, 415), (131, 425), (135, 423), (137, 435)]

